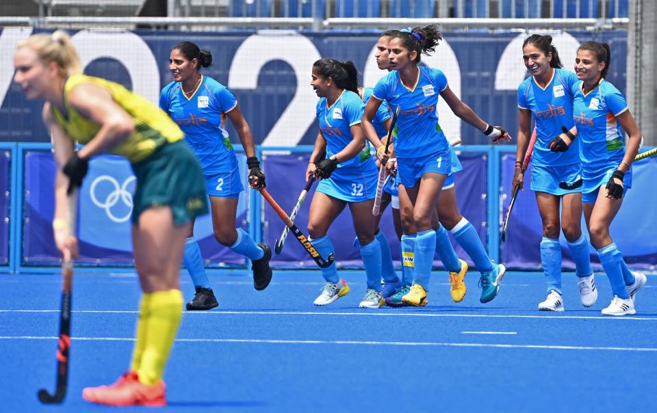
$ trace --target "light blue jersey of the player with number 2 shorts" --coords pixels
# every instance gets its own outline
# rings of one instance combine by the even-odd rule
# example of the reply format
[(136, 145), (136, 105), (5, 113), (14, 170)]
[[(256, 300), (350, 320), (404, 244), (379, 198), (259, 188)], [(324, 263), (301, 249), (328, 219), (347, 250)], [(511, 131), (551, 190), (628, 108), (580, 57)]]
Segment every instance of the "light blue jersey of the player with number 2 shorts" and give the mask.
[(190, 99), (183, 94), (179, 82), (166, 85), (159, 96), (159, 107), (183, 130), (185, 142), (194, 150), (205, 175), (237, 168), (235, 151), (225, 129), (226, 114), (236, 106), (235, 96), (207, 76), (203, 76), (201, 86)]

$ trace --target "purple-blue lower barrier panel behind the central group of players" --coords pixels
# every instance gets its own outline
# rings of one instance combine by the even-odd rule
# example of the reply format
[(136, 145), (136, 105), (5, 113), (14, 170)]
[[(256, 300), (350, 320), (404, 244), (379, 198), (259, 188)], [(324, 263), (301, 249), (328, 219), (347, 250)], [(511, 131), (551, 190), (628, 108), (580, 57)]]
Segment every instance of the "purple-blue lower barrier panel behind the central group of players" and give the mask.
[[(267, 189), (276, 202), (287, 213), (292, 211), (296, 200), (305, 185), (305, 171), (309, 161), (310, 148), (294, 148), (292, 155), (266, 155), (263, 157), (263, 167), (268, 176)], [(460, 156), (463, 172), (455, 176), (457, 204), (461, 213), (472, 222), (479, 232), (484, 245), (487, 239), (487, 161), (481, 153), (463, 152)], [(308, 213), (315, 193), (315, 185), (296, 216), (296, 225), (307, 235)], [(266, 201), (263, 202), (263, 242), (274, 245), (281, 236), (284, 224)], [(399, 261), (399, 241), (392, 224), (391, 208), (388, 207), (381, 219), (381, 229), (387, 237), (393, 258)], [(356, 237), (352, 217), (346, 208), (329, 228), (329, 237), (335, 245), (335, 260), (340, 266), (362, 267), (358, 248), (354, 247)], [(472, 265), (461, 247), (454, 243), (454, 250)], [(285, 248), (280, 255), (274, 255), (272, 265), (278, 267), (315, 268), (314, 261), (292, 236), (285, 241)], [(439, 261), (435, 265), (440, 267)]]

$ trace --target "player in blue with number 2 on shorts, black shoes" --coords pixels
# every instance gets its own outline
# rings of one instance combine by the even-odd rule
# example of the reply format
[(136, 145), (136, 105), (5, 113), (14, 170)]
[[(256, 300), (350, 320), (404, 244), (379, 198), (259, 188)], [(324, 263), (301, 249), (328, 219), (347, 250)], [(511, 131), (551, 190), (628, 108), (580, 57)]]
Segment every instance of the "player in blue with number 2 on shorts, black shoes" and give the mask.
[[(211, 62), (211, 53), (201, 51), (196, 44), (176, 44), (169, 58), (174, 81), (162, 90), (159, 106), (180, 126), (185, 133), (185, 142), (201, 162), (217, 241), (252, 261), (254, 287), (263, 290), (272, 278), (269, 267), (272, 253), (268, 245), (255, 243), (248, 232), (235, 228), (237, 198), (244, 187), (240, 181), (235, 151), (225, 129), (226, 117), (233, 122), (244, 146), (250, 185), (264, 187), (265, 176), (255, 157), (253, 136), (235, 96), (218, 81), (201, 75), (201, 67), (207, 67)], [(196, 295), (187, 304), (187, 309), (208, 310), (216, 307), (218, 303), (210, 288), (201, 250), (193, 233), (187, 240), (183, 263), (196, 289)]]

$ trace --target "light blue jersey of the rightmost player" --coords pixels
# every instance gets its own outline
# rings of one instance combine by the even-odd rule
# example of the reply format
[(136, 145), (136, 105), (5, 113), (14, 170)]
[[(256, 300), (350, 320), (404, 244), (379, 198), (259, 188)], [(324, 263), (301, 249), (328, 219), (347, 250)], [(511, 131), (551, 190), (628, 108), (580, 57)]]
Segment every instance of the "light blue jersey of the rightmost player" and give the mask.
[[(587, 193), (600, 187), (610, 171), (618, 168), (625, 155), (623, 131), (616, 117), (628, 110), (625, 96), (614, 85), (601, 79), (587, 94), (584, 82), (573, 85), (573, 113), (580, 140), (580, 161)], [(625, 187), (632, 187), (632, 168), (623, 179)]]

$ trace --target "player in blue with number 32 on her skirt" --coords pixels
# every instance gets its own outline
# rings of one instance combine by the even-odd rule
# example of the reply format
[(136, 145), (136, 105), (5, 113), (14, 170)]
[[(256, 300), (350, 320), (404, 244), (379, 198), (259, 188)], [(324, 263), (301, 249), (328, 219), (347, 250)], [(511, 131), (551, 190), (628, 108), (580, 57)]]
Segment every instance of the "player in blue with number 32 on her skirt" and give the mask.
[[(314, 175), (322, 181), (310, 206), (308, 232), (315, 249), (322, 256), (329, 256), (335, 248), (326, 232), (349, 206), (367, 275), (367, 291), (359, 306), (379, 308), (383, 305), (381, 243), (374, 234), (372, 215), (378, 170), (369, 149), (364, 150), (368, 145), (360, 123), (365, 105), (358, 94), (357, 80), (358, 72), (352, 62), (320, 59), (313, 64), (311, 85), (320, 97), (316, 107), (320, 132), (306, 178)], [(335, 263), (322, 268), (322, 276), (326, 285), (315, 305), (331, 304), (349, 292), (346, 282), (337, 275)], [(399, 282), (394, 271), (383, 276), (388, 277), (387, 284)]]

